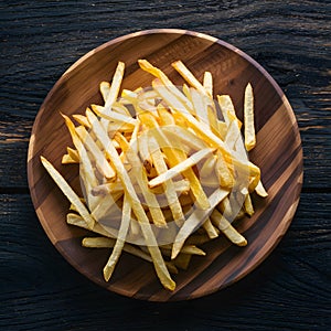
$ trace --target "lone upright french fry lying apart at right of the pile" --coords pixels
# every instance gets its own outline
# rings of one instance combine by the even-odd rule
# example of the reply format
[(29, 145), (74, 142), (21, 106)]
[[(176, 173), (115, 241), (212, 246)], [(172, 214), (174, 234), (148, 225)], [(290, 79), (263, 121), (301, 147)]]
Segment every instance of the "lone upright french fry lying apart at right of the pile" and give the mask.
[(253, 97), (253, 87), (249, 83), (245, 88), (244, 137), (245, 137), (246, 150), (249, 151), (256, 145), (255, 126), (254, 126), (254, 97)]

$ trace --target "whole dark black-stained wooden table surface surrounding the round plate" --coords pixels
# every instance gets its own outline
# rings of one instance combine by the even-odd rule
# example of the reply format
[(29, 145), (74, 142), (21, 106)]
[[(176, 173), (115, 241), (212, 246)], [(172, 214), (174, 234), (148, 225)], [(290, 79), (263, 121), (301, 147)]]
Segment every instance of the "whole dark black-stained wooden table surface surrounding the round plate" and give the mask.
[[(331, 3), (321, 1), (0, 2), (1, 330), (330, 330)], [(250, 275), (172, 303), (90, 282), (52, 246), (26, 182), (31, 128), (47, 92), (89, 50), (138, 30), (177, 28), (227, 41), (259, 62), (291, 103), (305, 182), (292, 224)]]

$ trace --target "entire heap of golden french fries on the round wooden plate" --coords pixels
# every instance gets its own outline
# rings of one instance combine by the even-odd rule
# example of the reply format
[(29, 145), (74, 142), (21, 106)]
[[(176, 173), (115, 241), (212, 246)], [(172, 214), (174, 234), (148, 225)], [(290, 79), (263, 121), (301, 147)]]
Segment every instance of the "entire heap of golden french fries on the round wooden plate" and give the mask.
[(185, 82), (179, 87), (147, 60), (138, 63), (153, 76), (151, 87), (122, 88), (119, 62), (111, 84), (99, 85), (104, 105), (74, 121), (62, 115), (74, 145), (62, 163), (79, 164), (83, 192), (41, 161), (71, 202), (66, 222), (94, 233), (82, 245), (111, 248), (106, 281), (124, 250), (152, 263), (174, 290), (171, 274), (205, 255), (199, 245), (221, 234), (247, 245), (232, 221), (254, 214), (253, 192), (267, 196), (247, 154), (256, 143), (253, 88), (245, 89), (243, 126), (228, 95), (214, 98), (210, 72), (201, 83), (177, 61), (171, 65)]

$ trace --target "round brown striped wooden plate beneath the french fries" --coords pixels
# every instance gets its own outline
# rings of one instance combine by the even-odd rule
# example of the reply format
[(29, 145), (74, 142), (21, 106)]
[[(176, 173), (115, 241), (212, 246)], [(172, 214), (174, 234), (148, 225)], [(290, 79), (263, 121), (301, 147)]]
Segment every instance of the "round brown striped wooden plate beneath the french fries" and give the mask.
[[(40, 162), (47, 158), (78, 192), (77, 166), (62, 166), (66, 146), (72, 146), (60, 111), (83, 114), (102, 97), (98, 85), (109, 81), (118, 61), (126, 63), (124, 86), (149, 86), (151, 76), (138, 68), (147, 58), (162, 68), (175, 84), (183, 81), (170, 63), (182, 60), (202, 78), (204, 71), (214, 77), (215, 94), (229, 94), (242, 117), (244, 88), (255, 90), (257, 146), (250, 159), (261, 169), (269, 196), (256, 199), (256, 213), (244, 218), (238, 229), (248, 241), (245, 248), (217, 238), (204, 246), (205, 257), (193, 258), (186, 271), (174, 277), (177, 289), (164, 290), (150, 264), (122, 254), (109, 282), (103, 279), (107, 249), (81, 246), (86, 231), (68, 226), (70, 203)], [(258, 266), (286, 233), (299, 202), (302, 184), (302, 149), (293, 111), (270, 75), (238, 49), (212, 36), (183, 30), (149, 30), (115, 39), (93, 50), (72, 65), (49, 93), (36, 116), (28, 156), (32, 201), (47, 236), (60, 253), (83, 275), (98, 285), (128, 297), (168, 301), (205, 296), (220, 290)]]

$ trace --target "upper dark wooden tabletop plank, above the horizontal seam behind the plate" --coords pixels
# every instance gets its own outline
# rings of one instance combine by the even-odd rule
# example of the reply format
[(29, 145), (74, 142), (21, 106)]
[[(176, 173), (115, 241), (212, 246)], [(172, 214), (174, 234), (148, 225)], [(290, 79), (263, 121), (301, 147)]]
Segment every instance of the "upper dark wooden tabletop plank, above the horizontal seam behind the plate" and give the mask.
[[(327, 111), (331, 99), (325, 74), (330, 15), (323, 1), (202, 2), (199, 7), (196, 1), (185, 6), (156, 1), (148, 6), (137, 3), (134, 9), (121, 1), (116, 10), (98, 1), (70, 3), (11, 1), (1, 9), (6, 30), (0, 68), (0, 188), (26, 188), (25, 156), (33, 120), (47, 92), (70, 65), (110, 39), (158, 26), (160, 18), (167, 19), (169, 26), (179, 26), (179, 15), (183, 29), (233, 43), (275, 77), (299, 122), (306, 170), (303, 188), (330, 188)], [(143, 20), (141, 14), (147, 8), (150, 14)], [(265, 20), (268, 15), (273, 20)], [(127, 17), (130, 26), (122, 23)], [(226, 22), (226, 29), (222, 22)]]

